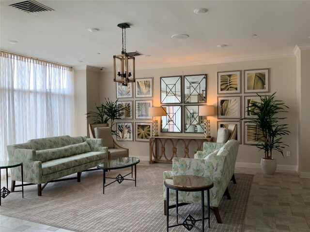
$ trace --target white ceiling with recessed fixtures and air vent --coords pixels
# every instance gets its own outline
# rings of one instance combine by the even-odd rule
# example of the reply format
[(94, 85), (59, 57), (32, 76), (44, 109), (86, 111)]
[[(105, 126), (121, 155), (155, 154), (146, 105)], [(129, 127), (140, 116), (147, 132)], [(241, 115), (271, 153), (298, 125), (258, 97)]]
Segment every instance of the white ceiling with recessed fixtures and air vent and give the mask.
[(70, 66), (111, 69), (124, 22), (127, 52), (149, 56), (137, 69), (287, 57), (310, 44), (310, 0), (38, 0), (55, 11), (30, 14), (9, 6), (20, 1), (0, 0), (0, 49)]

